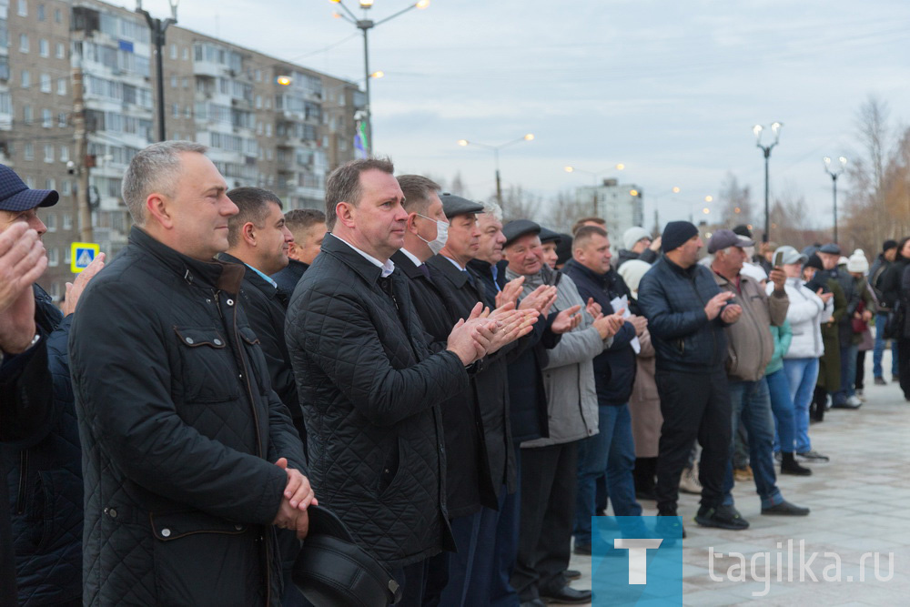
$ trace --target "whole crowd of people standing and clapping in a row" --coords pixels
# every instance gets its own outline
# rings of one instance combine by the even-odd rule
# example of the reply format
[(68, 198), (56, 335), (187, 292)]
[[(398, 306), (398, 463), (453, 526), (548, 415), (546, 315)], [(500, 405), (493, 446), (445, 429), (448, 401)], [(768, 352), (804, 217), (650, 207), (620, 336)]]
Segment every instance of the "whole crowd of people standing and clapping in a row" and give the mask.
[(910, 238), (870, 268), (672, 221), (614, 258), (602, 218), (503, 225), (388, 159), (285, 213), (206, 152), (136, 154), (129, 243), (59, 309), (35, 284), (57, 194), (0, 167), (2, 604), (306, 605), (316, 504), (398, 604), (591, 602), (592, 517), (655, 501), (622, 533), (681, 541), (682, 490), (743, 530), (736, 481), (808, 515), (777, 471), (828, 460), (811, 423), (862, 405), (865, 351), (885, 383), (894, 341), (910, 400)]

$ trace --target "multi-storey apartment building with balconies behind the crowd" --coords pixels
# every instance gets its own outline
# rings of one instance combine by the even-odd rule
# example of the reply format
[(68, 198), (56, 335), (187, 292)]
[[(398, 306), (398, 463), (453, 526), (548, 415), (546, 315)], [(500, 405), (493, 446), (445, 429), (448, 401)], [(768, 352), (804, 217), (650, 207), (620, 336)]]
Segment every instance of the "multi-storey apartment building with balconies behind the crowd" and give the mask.
[[(322, 207), (326, 176), (355, 156), (356, 84), (176, 25), (162, 56), (167, 138), (210, 147), (228, 187), (268, 188), (286, 209)], [(155, 63), (145, 18), (125, 8), (0, 0), (0, 162), (29, 186), (60, 192), (41, 214), (50, 261), (41, 282), (55, 298), (73, 279), (81, 171), (93, 241), (109, 255), (126, 245), (120, 185), (136, 152), (157, 141)], [(86, 157), (75, 140), (74, 76)]]

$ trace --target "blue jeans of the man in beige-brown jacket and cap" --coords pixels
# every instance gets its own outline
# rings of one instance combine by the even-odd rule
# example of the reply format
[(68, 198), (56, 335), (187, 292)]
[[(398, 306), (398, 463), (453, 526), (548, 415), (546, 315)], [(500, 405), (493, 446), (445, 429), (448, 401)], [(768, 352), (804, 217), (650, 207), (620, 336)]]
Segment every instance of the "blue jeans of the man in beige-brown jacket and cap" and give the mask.
[[(730, 380), (730, 409), (733, 410), (732, 429), (736, 431), (743, 420), (749, 436), (749, 461), (755, 479), (755, 490), (762, 498), (762, 507), (768, 508), (784, 501), (777, 489), (774, 474), (774, 419), (771, 397), (764, 378), (758, 381)], [(727, 460), (726, 478), (723, 481), (723, 503), (733, 505), (733, 440), (730, 441), (730, 459)]]

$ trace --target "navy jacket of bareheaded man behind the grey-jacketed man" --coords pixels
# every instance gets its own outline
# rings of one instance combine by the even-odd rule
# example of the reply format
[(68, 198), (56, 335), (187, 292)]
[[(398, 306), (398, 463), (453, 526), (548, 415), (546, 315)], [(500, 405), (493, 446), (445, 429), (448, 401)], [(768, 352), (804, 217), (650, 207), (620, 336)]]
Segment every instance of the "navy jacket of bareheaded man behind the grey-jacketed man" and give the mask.
[[(601, 305), (604, 314), (616, 311), (610, 305), (613, 298), (621, 298), (624, 295), (632, 301), (632, 293), (626, 287), (625, 281), (612, 269), (606, 274), (598, 274), (570, 259), (562, 268), (562, 272), (575, 283), (581, 298), (585, 302), (589, 298), (594, 298), (594, 301)], [(594, 357), (594, 384), (597, 388), (598, 404), (623, 405), (632, 396), (636, 369), (632, 339), (635, 339), (635, 328), (632, 323), (626, 323), (613, 336), (610, 348)]]

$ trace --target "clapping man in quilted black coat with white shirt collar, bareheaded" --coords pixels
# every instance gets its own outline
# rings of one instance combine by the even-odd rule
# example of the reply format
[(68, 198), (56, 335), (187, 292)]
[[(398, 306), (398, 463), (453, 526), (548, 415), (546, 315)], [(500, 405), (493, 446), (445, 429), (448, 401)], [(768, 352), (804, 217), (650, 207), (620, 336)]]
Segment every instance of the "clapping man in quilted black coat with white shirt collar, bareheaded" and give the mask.
[(320, 501), (393, 570), (403, 604), (420, 604), (426, 560), (454, 548), (440, 403), (467, 389), (497, 323), (469, 319), (431, 352), (389, 260), (408, 221), (393, 170), (367, 158), (329, 176), (331, 233), (294, 291), (286, 337)]

